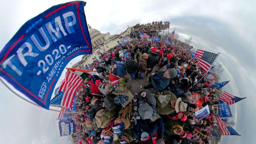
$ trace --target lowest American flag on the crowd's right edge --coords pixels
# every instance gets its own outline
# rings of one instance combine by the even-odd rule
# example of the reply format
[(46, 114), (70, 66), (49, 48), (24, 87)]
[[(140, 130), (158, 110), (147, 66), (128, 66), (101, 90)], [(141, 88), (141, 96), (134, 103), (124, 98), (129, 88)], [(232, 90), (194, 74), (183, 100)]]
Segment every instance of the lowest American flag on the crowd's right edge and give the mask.
[(215, 119), (219, 125), (222, 135), (239, 135), (231, 126), (227, 125), (226, 122), (223, 122), (220, 117), (216, 117)]

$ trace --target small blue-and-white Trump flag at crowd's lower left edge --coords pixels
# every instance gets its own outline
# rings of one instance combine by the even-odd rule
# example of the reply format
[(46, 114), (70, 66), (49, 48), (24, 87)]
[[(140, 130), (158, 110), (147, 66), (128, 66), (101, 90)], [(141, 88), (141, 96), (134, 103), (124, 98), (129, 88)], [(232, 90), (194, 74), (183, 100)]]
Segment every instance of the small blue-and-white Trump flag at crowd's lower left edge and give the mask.
[(59, 121), (60, 136), (70, 135), (76, 133), (76, 124), (73, 120), (70, 122)]

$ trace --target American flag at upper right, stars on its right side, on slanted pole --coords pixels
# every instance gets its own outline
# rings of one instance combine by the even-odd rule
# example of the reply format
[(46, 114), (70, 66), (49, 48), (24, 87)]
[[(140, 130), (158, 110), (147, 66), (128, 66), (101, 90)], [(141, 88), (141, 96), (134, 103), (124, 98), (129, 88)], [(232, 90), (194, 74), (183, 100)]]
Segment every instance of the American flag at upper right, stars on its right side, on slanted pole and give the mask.
[(218, 54), (210, 53), (204, 50), (196, 50), (196, 53), (195, 53), (195, 57), (196, 59), (198, 59), (199, 65), (204, 71), (210, 70), (217, 56)]

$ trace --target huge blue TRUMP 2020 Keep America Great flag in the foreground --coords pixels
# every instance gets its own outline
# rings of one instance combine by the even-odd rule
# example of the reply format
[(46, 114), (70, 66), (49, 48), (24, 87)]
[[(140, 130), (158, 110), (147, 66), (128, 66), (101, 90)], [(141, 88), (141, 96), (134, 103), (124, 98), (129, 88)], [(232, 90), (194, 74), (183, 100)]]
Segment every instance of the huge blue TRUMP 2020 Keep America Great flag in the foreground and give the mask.
[(0, 52), (0, 76), (45, 109), (68, 62), (92, 53), (85, 4), (49, 8), (27, 21)]

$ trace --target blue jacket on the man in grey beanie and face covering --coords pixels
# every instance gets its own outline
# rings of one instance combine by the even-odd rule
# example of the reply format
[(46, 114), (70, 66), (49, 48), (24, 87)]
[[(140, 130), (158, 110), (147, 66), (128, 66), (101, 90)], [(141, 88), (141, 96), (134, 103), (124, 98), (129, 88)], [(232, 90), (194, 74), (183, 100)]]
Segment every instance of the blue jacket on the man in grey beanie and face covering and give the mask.
[(163, 73), (165, 73), (165, 71), (161, 71), (160, 73), (155, 73), (152, 76), (150, 83), (152, 84), (155, 90), (163, 90), (169, 85), (169, 82), (171, 79), (164, 78)]

